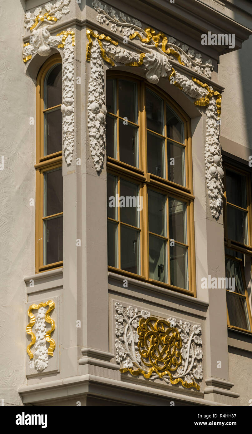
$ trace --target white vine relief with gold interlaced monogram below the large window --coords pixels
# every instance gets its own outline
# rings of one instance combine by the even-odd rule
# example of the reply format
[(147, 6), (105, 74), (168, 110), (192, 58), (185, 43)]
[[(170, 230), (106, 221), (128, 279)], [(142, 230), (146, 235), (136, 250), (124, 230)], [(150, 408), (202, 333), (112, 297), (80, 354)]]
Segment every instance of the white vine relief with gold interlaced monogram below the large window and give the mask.
[(115, 348), (120, 372), (200, 390), (203, 357), (200, 325), (151, 316), (115, 303)]

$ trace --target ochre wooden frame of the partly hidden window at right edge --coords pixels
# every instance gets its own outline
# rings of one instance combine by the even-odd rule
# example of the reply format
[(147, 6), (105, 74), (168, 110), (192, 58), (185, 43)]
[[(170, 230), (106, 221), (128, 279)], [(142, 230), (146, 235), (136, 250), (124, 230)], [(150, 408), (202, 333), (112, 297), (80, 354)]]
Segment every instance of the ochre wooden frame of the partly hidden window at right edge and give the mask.
[[(238, 164), (238, 167), (234, 167), (234, 164), (230, 163), (229, 161), (225, 161), (225, 160), (224, 160), (223, 168), (224, 168), (224, 194), (223, 194), (224, 245), (227, 249), (236, 250), (239, 253), (250, 256), (250, 259), (251, 259), (250, 266), (252, 267), (252, 188), (251, 188), (252, 178), (251, 178), (251, 173), (249, 171), (242, 169), (239, 166), (239, 164)], [(228, 238), (227, 205), (229, 204), (229, 202), (227, 201), (227, 197), (226, 197), (226, 169), (228, 169), (229, 171), (232, 171), (236, 174), (245, 176), (247, 208), (246, 209), (242, 208), (242, 207), (237, 207), (237, 208), (240, 210), (247, 211), (249, 244), (239, 243), (236, 240), (231, 240)], [(231, 204), (231, 205), (234, 206), (233, 204)], [(240, 327), (237, 327), (236, 325), (230, 324), (229, 313), (228, 313), (228, 309), (227, 309), (228, 328), (229, 329), (235, 329), (235, 330), (238, 330), (240, 332), (246, 332), (246, 333), (252, 334), (252, 315), (251, 315), (251, 307), (249, 304), (249, 295), (248, 295), (248, 291), (247, 291), (247, 285), (245, 282), (245, 273), (244, 273), (243, 261), (242, 261), (242, 259), (237, 258), (236, 256), (230, 256), (226, 253), (225, 253), (225, 258), (233, 260), (234, 262), (237, 262), (240, 265), (242, 283), (243, 283), (243, 287), (244, 287), (244, 295), (239, 294), (239, 293), (235, 293), (235, 292), (232, 292), (232, 294), (234, 294), (235, 296), (241, 296), (241, 297), (246, 299), (246, 306), (247, 306), (247, 310), (248, 310), (249, 325), (250, 325), (250, 330), (247, 330), (247, 329), (241, 329)], [(229, 292), (228, 289), (226, 291)]]

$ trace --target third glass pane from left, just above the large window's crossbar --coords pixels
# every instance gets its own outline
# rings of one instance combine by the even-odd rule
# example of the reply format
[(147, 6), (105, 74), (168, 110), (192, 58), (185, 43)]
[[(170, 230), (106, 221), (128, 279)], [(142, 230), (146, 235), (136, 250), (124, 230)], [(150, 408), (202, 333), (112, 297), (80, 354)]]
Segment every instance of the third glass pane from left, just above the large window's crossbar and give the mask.
[(148, 172), (165, 178), (164, 139), (147, 132)]

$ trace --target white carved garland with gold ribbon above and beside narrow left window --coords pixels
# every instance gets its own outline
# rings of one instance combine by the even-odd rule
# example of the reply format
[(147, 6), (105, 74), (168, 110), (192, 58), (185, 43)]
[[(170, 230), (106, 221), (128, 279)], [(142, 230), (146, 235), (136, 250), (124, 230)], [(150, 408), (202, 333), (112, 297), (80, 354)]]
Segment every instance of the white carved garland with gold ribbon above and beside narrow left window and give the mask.
[[(62, 49), (62, 148), (67, 164), (72, 162), (74, 147), (74, 46), (75, 33), (71, 29), (63, 30), (56, 36), (51, 36), (49, 26), (55, 24), (62, 14), (69, 13), (68, 5), (71, 0), (61, 0), (46, 3), (46, 13), (40, 15), (42, 8), (34, 13), (27, 12), (25, 27), (32, 32), (30, 42), (23, 46), (23, 61), (26, 63), (35, 53), (48, 56), (52, 48)], [(39, 15), (37, 15), (39, 14)], [(46, 25), (42, 26), (42, 23)]]

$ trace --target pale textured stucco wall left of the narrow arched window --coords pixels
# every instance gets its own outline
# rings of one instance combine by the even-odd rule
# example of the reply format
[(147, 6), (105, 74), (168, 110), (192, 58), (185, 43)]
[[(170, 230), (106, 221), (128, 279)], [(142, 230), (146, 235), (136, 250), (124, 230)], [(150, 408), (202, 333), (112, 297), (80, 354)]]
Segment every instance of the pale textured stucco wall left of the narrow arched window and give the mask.
[[(34, 273), (35, 86), (22, 62), (24, 1), (1, 1), (0, 56), (0, 399), (20, 404), (25, 384), (23, 276)], [(35, 121), (35, 119), (34, 119)]]

